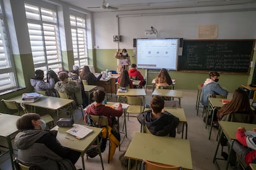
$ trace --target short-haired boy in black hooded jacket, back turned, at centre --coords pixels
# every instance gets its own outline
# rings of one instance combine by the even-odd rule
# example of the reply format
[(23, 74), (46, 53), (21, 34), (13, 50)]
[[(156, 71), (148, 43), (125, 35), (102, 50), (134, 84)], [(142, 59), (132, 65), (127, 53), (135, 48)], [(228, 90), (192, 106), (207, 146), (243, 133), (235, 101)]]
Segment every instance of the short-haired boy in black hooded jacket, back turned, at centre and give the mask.
[(176, 136), (176, 128), (179, 124), (179, 118), (164, 111), (164, 99), (155, 95), (150, 100), (151, 110), (140, 113), (137, 117), (140, 124), (145, 124), (151, 134), (156, 136)]

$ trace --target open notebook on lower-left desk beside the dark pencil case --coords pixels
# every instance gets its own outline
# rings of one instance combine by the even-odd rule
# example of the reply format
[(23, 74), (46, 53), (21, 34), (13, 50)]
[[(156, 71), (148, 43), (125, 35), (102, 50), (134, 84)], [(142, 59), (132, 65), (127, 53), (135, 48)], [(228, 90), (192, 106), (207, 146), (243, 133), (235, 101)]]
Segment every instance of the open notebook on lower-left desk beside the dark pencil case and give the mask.
[(80, 124), (74, 124), (73, 127), (67, 130), (66, 132), (72, 136), (75, 136), (77, 139), (83, 139), (83, 137), (87, 136), (92, 131), (92, 129), (89, 129)]

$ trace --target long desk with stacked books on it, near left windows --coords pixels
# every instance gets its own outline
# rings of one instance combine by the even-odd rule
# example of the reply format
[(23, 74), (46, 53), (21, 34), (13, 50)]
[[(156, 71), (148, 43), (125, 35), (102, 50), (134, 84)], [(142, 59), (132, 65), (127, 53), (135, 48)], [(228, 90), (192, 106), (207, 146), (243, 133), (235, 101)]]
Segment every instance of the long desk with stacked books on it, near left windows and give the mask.
[[(14, 100), (17, 103), (22, 102), (22, 95), (18, 95), (16, 97), (12, 97), (8, 100)], [(41, 107), (41, 108), (48, 108), (49, 110), (55, 110), (57, 114), (57, 119), (59, 119), (59, 109), (66, 107), (70, 103), (74, 102), (71, 99), (62, 99), (59, 97), (51, 97), (51, 96), (43, 96), (40, 99), (36, 100), (33, 103), (24, 103), (25, 105), (30, 105), (32, 107)], [(72, 114), (72, 113), (70, 113)]]

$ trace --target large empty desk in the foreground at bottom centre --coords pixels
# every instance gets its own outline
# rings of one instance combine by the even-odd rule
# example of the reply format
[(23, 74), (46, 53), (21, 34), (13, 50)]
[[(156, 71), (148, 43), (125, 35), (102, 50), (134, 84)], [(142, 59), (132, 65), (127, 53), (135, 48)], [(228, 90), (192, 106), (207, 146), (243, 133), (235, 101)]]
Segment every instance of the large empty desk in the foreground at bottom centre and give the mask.
[(128, 169), (130, 160), (143, 159), (193, 169), (190, 144), (186, 139), (136, 132), (124, 156), (129, 158)]

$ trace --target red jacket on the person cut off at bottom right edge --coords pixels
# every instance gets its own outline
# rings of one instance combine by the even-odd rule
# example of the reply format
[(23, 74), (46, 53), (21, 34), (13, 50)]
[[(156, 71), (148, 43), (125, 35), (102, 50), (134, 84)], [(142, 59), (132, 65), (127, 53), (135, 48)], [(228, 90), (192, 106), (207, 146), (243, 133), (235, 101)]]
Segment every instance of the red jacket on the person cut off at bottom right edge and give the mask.
[(249, 165), (256, 158), (256, 144), (254, 143), (254, 141), (256, 142), (256, 137), (247, 137), (242, 129), (237, 129), (236, 139), (238, 140), (238, 142), (240, 142), (240, 144), (244, 145), (245, 147), (253, 149), (251, 152), (245, 154), (245, 163)]

